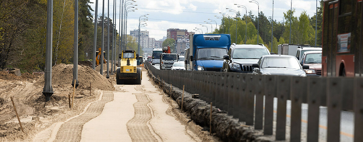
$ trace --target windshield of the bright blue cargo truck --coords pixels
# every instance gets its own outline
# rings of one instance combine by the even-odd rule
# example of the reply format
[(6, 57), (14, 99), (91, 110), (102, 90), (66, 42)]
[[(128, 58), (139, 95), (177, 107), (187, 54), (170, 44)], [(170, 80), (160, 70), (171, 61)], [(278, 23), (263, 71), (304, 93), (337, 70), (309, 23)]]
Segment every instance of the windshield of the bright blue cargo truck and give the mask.
[(198, 60), (223, 60), (223, 55), (227, 54), (226, 48), (200, 48), (198, 49)]

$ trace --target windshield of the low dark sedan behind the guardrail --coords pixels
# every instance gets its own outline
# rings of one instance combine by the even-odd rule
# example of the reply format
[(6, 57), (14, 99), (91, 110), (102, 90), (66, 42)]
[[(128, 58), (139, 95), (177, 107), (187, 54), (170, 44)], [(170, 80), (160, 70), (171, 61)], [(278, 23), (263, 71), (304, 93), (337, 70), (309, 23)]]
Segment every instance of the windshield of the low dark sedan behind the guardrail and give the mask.
[(294, 57), (265, 57), (261, 68), (301, 69), (301, 66)]

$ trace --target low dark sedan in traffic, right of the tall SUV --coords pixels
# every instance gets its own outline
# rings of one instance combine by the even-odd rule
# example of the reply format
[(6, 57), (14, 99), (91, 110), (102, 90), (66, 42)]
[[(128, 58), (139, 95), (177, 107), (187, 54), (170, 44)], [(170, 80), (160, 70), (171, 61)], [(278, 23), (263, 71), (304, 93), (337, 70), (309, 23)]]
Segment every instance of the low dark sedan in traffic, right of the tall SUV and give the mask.
[(301, 77), (306, 76), (303, 69), (309, 69), (309, 66), (301, 66), (297, 58), (290, 55), (265, 55), (252, 67), (253, 74)]

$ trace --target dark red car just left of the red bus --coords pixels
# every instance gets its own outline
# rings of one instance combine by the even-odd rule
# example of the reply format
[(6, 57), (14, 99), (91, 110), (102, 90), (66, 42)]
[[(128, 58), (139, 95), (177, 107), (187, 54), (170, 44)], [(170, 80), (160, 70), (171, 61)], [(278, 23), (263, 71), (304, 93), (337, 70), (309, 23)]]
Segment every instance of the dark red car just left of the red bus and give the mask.
[(321, 76), (321, 56), (321, 50), (307, 51), (303, 53), (300, 64), (309, 66), (310, 69), (305, 69), (305, 73), (307, 76)]

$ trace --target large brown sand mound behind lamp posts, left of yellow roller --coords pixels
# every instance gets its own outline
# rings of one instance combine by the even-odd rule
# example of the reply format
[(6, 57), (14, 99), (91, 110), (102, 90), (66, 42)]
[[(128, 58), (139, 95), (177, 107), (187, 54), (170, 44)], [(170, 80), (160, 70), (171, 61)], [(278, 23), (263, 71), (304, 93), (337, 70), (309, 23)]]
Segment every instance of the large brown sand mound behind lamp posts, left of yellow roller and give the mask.
[[(73, 64), (57, 64), (52, 68), (52, 86), (72, 87)], [(78, 65), (78, 82), (79, 87), (89, 86), (92, 82), (92, 88), (100, 90), (114, 90), (114, 86), (106, 77), (101, 76), (98, 72), (88, 66)], [(42, 75), (35, 85), (44, 85), (44, 75)]]

